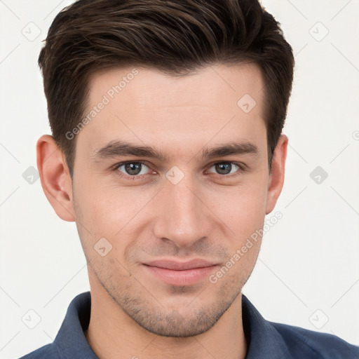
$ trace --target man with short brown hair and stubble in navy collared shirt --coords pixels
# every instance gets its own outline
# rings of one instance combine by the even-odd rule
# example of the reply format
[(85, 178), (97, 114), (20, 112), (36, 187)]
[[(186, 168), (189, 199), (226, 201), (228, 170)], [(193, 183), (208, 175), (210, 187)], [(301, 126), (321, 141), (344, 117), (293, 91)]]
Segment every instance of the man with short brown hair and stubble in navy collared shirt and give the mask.
[(23, 358), (359, 357), (241, 293), (283, 187), (294, 68), (257, 1), (80, 0), (39, 65), (41, 184), (76, 222), (90, 292)]

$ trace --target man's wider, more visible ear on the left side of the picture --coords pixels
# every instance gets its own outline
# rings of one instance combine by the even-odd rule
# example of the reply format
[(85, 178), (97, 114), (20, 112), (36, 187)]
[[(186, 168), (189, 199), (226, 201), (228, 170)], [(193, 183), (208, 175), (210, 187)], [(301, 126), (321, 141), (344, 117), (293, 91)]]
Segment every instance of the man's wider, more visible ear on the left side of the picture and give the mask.
[(50, 205), (64, 221), (74, 222), (72, 179), (69, 168), (52, 136), (42, 135), (36, 143), (37, 168), (41, 186)]

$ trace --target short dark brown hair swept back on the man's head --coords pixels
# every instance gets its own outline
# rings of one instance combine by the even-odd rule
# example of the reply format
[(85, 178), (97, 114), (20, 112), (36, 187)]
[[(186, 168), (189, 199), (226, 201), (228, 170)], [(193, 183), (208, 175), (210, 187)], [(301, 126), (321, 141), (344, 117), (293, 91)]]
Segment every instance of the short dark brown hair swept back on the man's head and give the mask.
[(264, 75), (271, 160), (292, 90), (294, 56), (280, 24), (257, 0), (79, 0), (53, 20), (39, 55), (53, 137), (73, 176), (76, 137), (90, 75), (139, 65), (170, 75), (255, 62)]

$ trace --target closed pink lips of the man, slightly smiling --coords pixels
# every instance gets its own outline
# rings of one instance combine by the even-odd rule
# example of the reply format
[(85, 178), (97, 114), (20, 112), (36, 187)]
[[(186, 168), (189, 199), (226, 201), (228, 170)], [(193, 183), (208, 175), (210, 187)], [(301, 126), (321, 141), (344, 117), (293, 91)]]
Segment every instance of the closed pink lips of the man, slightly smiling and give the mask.
[(168, 285), (194, 285), (208, 278), (217, 268), (217, 264), (204, 259), (192, 259), (188, 262), (176, 262), (166, 259), (144, 264), (151, 276)]

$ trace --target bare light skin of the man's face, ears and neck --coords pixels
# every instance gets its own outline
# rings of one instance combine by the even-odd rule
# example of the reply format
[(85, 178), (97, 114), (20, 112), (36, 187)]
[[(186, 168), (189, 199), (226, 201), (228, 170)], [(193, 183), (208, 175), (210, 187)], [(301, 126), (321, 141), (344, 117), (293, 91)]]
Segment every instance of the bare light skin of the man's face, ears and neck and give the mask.
[[(131, 69), (97, 72), (89, 109)], [(201, 258), (217, 264), (209, 274), (217, 273), (262, 229), (276, 205), (287, 137), (278, 141), (270, 174), (263, 79), (255, 64), (208, 66), (182, 77), (137, 69), (77, 135), (73, 180), (53, 137), (43, 135), (36, 145), (43, 191), (61, 219), (76, 222), (88, 261), (92, 306), (86, 339), (107, 359), (244, 358), (241, 290), (261, 238), (217, 283), (208, 275), (194, 285), (169, 285), (143, 263)], [(245, 94), (257, 102), (248, 113), (237, 105)], [(94, 152), (112, 140), (156, 147), (169, 161), (137, 156), (95, 161)], [(232, 141), (255, 144), (257, 155), (210, 161), (199, 156), (202, 149)], [(124, 166), (111, 171), (121, 161), (144, 161), (144, 176), (131, 180)], [(238, 176), (225, 177), (218, 162), (232, 162), (228, 172)], [(177, 184), (165, 177), (173, 166), (184, 175)], [(94, 249), (100, 238), (112, 245), (104, 257)]]

